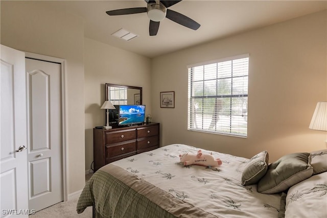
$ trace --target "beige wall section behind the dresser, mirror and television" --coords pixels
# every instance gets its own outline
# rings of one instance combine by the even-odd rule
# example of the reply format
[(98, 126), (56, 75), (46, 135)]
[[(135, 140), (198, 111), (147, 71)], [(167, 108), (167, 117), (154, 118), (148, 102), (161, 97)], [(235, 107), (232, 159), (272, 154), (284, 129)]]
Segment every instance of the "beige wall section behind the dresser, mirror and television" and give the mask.
[(85, 38), (85, 169), (93, 161), (93, 128), (106, 123), (105, 83), (143, 87), (143, 104), (151, 113), (150, 59)]

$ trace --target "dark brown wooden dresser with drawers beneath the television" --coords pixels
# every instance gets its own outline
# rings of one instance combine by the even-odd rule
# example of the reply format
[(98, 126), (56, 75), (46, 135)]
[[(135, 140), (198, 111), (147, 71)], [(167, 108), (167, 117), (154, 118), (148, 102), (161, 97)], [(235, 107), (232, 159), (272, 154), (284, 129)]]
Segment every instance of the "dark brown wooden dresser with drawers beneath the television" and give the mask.
[(159, 124), (93, 129), (94, 171), (110, 162), (159, 148)]

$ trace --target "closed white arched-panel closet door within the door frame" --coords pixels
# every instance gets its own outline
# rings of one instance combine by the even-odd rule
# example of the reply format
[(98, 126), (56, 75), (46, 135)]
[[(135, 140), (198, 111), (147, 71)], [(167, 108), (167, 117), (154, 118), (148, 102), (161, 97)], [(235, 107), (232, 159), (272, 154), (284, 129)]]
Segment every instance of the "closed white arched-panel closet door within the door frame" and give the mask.
[(63, 201), (61, 64), (26, 59), (29, 207)]

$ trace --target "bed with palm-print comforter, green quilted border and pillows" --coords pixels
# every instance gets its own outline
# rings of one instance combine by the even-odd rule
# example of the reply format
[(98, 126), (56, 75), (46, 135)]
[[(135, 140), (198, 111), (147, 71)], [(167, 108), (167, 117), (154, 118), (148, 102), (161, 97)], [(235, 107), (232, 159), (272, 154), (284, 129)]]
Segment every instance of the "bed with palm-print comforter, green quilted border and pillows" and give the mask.
[[(327, 150), (269, 164), (267, 151), (246, 159), (202, 149), (222, 165), (180, 162), (179, 154), (198, 150), (171, 144), (101, 167), (85, 184), (77, 213), (93, 206), (96, 217), (327, 217)], [(309, 213), (313, 205), (318, 212)]]

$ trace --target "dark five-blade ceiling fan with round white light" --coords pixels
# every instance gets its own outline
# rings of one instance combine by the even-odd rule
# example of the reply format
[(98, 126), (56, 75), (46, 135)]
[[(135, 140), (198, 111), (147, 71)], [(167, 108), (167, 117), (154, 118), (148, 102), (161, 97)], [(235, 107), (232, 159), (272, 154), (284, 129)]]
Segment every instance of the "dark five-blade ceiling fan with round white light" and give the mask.
[(179, 23), (184, 27), (188, 27), (192, 30), (199, 29), (200, 25), (190, 17), (186, 17), (183, 14), (180, 14), (176, 11), (168, 9), (170, 6), (175, 5), (180, 1), (163, 1), (163, 0), (145, 0), (147, 2), (147, 7), (142, 8), (125, 8), (117, 9), (112, 11), (106, 11), (108, 15), (125, 15), (125, 14), (137, 14), (147, 12), (148, 17), (150, 18), (149, 34), (150, 36), (157, 35), (159, 29), (160, 21), (164, 20), (165, 17), (168, 19)]

